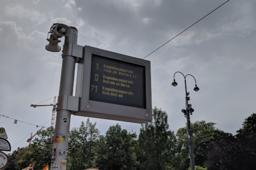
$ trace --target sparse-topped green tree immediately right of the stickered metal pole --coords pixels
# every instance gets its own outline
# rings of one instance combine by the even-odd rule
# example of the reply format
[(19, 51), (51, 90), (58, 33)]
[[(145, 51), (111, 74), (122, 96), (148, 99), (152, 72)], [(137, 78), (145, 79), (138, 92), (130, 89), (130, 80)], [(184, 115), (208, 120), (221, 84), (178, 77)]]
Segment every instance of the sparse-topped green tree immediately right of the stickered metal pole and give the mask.
[[(96, 128), (96, 122), (93, 124), (89, 119), (87, 119), (86, 123), (82, 121), (79, 128), (71, 130), (67, 161), (68, 170), (84, 170), (88, 168), (90, 142), (94, 144), (99, 134), (100, 131)], [(92, 149), (93, 158), (94, 149)]]

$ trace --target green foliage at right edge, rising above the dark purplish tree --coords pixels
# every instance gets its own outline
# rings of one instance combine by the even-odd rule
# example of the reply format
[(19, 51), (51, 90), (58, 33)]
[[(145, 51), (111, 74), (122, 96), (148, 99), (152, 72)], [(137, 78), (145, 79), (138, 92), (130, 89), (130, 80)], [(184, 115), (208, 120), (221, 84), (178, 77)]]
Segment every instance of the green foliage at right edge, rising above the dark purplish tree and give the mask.
[(239, 130), (236, 131), (238, 134), (256, 132), (256, 114), (251, 114), (251, 116), (245, 119), (242, 125), (242, 129), (240, 128)]

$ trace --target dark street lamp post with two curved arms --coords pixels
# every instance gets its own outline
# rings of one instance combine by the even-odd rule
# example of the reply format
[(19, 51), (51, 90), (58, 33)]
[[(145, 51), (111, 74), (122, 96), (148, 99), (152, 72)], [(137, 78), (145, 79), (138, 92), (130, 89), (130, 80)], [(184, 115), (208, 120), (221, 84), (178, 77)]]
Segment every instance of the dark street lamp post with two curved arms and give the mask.
[[(176, 72), (176, 73), (181, 73), (181, 72)], [(178, 85), (177, 82), (175, 82), (175, 74), (173, 75), (173, 82), (171, 85), (173, 85), (174, 87)], [(188, 97), (189, 95), (189, 92), (187, 92), (186, 90), (186, 76), (187, 75), (191, 75), (191, 74), (187, 74), (187, 75), (184, 75), (183, 73), (181, 73), (183, 76), (184, 76), (184, 79), (185, 79), (185, 93), (186, 93), (186, 97), (185, 97), (185, 100), (186, 100), (186, 109), (182, 109), (182, 112), (185, 114), (185, 117), (186, 117), (186, 120), (187, 120), (187, 131), (188, 131), (188, 140), (189, 140), (189, 158), (190, 158), (190, 163), (191, 163), (191, 170), (195, 170), (195, 159), (194, 159), (194, 149), (193, 149), (193, 141), (192, 141), (192, 133), (191, 133), (191, 127), (190, 127), (190, 114), (192, 115), (194, 112), (194, 109), (192, 109), (192, 105), (191, 104), (188, 104), (188, 100), (190, 100), (190, 97)], [(193, 75), (191, 75), (194, 79), (195, 77)], [(195, 79), (195, 82), (196, 82), (196, 86), (194, 88), (194, 90), (197, 92), (199, 91), (199, 88), (197, 86), (197, 81)]]

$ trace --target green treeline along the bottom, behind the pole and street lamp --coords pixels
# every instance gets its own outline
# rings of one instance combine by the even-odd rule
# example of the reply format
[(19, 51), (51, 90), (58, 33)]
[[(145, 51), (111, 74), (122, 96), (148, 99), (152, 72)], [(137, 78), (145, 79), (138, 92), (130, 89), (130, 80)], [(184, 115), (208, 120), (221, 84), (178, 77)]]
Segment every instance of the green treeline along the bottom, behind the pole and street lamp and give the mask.
[[(253, 113), (245, 119), (243, 128), (237, 132), (255, 132), (255, 122), (256, 114)], [(214, 125), (213, 122), (205, 121), (191, 123), (196, 170), (206, 170), (207, 153), (213, 150), (214, 143), (232, 135), (215, 128)], [(92, 168), (187, 170), (190, 167), (187, 136), (186, 126), (180, 128), (175, 136), (174, 132), (169, 130), (167, 113), (156, 107), (153, 109), (153, 121), (142, 124), (138, 140), (135, 140), (136, 133), (128, 133), (127, 130), (121, 129), (119, 124), (110, 126), (105, 136), (100, 135), (96, 123), (91, 123), (87, 119), (86, 122), (82, 121), (80, 127), (70, 131), (67, 169), (88, 168), (91, 144)], [(24, 169), (30, 163), (35, 164), (35, 170), (42, 170), (46, 165), (50, 167), (53, 140), (53, 127), (38, 132), (32, 145), (18, 147), (12, 154), (8, 154), (13, 161), (10, 161), (3, 170)], [(216, 150), (214, 153), (219, 154)]]

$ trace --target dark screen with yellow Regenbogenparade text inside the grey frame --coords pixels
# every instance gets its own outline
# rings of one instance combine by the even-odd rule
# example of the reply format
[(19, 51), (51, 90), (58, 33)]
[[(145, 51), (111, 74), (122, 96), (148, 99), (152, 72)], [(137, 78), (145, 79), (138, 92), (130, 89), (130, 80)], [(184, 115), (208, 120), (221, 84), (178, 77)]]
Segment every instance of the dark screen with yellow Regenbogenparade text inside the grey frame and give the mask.
[(89, 100), (146, 109), (145, 67), (92, 54)]

